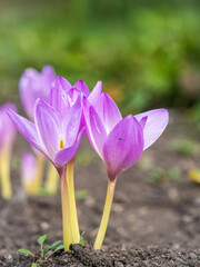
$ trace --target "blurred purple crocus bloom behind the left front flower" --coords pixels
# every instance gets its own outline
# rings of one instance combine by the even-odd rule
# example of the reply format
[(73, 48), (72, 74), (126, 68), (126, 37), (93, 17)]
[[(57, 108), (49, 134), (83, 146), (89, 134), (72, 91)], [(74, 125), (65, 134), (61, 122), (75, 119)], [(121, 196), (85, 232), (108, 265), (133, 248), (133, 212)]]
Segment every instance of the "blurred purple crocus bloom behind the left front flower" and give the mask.
[(44, 66), (41, 72), (28, 68), (24, 70), (19, 81), (20, 98), (23, 108), (31, 120), (33, 120), (33, 109), (36, 100), (41, 97), (48, 100), (51, 83), (56, 73), (51, 66)]

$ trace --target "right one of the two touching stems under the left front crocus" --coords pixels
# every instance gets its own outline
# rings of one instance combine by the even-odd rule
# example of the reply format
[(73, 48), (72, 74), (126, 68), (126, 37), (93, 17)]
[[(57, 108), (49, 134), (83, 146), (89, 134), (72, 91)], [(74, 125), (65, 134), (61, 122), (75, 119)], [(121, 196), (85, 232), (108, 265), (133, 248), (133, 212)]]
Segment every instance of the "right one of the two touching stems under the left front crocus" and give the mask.
[(77, 244), (80, 241), (80, 231), (79, 231), (76, 196), (74, 196), (73, 167), (74, 167), (74, 159), (69, 161), (67, 165), (67, 180), (68, 180), (68, 189), (69, 189), (72, 240), (73, 240), (73, 244)]

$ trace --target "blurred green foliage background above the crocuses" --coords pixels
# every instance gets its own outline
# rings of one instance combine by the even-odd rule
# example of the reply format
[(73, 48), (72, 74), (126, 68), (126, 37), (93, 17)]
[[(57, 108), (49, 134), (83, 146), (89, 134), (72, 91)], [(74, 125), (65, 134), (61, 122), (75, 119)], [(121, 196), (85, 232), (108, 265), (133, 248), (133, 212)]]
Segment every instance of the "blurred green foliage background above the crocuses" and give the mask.
[[(200, 113), (200, 1), (1, 0), (1, 99), (24, 68), (54, 67), (71, 83), (103, 81), (123, 112)], [(199, 115), (200, 117), (200, 115)]]

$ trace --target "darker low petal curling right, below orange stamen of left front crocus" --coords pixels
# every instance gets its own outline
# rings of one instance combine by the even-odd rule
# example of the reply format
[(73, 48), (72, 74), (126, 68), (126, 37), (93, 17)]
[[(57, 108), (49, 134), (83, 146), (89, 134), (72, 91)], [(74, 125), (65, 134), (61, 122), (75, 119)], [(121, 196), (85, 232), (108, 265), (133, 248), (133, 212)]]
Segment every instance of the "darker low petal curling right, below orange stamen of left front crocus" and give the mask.
[(84, 128), (82, 128), (82, 130), (79, 132), (77, 141), (71, 147), (63, 148), (59, 152), (57, 152), (57, 155), (54, 157), (54, 167), (56, 168), (60, 168), (60, 167), (64, 166), (74, 157), (74, 155), (77, 154), (77, 150), (79, 148), (79, 145), (83, 138), (83, 135), (84, 135)]

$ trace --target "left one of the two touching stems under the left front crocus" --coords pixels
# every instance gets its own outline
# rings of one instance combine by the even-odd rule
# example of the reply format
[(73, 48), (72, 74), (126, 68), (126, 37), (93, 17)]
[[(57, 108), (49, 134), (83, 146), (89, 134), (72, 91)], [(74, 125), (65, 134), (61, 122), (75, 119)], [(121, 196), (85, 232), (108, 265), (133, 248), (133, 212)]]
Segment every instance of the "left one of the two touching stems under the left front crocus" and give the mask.
[(63, 244), (64, 251), (69, 250), (69, 246), (72, 244), (71, 233), (71, 219), (70, 219), (70, 204), (67, 184), (67, 167), (60, 175), (60, 188), (61, 188), (61, 204), (62, 204), (62, 230), (63, 230)]

